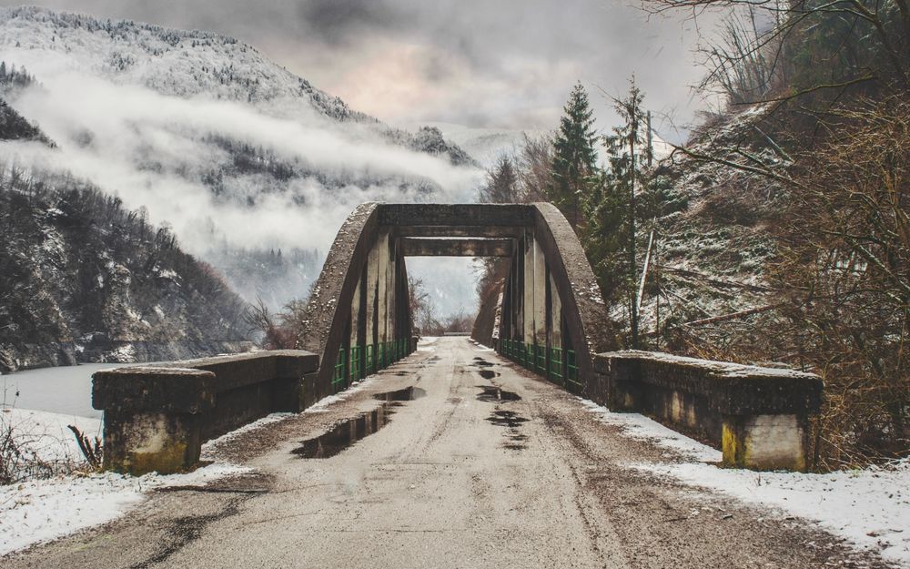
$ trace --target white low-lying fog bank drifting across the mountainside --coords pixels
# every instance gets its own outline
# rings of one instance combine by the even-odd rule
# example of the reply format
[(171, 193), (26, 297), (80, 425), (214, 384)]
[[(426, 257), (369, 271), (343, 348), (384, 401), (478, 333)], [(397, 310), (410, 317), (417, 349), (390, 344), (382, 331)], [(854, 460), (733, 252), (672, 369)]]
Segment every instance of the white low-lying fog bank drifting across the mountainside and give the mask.
[[(4, 152), (20, 164), (90, 180), (129, 208), (147, 208), (151, 221), (171, 225), (197, 254), (222, 239), (235, 247), (325, 251), (355, 205), (426, 198), (385, 180), (425, 180), (437, 188), (438, 201), (470, 201), (480, 180), (475, 168), (391, 145), (362, 127), (278, 118), (237, 102), (170, 97), (84, 74), (37, 73), (43, 85), (18, 97), (15, 107), (59, 147), (5, 145)], [(211, 137), (358, 183), (326, 188), (317, 178), (291, 178), (276, 188), (274, 178), (254, 174), (225, 180), (233, 198), (217, 198), (201, 180), (230, 158)], [(377, 182), (363, 182), (369, 179)]]

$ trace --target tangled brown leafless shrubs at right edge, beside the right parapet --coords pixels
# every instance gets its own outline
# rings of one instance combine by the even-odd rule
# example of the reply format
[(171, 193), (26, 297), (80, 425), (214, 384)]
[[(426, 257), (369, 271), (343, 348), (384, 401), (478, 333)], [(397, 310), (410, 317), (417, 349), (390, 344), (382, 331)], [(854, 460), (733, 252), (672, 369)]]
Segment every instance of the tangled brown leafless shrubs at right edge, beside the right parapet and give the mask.
[(838, 111), (827, 143), (800, 158), (778, 227), (773, 278), (799, 361), (824, 376), (819, 466), (910, 449), (910, 94)]

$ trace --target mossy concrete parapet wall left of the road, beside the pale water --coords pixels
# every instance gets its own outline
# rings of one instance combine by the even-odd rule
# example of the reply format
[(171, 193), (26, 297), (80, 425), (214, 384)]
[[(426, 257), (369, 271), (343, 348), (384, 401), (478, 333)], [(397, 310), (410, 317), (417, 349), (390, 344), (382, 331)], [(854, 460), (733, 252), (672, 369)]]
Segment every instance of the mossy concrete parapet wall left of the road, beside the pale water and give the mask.
[(192, 468), (203, 442), (270, 412), (302, 410), (303, 378), (318, 369), (315, 354), (278, 350), (97, 371), (92, 406), (105, 412), (105, 468)]

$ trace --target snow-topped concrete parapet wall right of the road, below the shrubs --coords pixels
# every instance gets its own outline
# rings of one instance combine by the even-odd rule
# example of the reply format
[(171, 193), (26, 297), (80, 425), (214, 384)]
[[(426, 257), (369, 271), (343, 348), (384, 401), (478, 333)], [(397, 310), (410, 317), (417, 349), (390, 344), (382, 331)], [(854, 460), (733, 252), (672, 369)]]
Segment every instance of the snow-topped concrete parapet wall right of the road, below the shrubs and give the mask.
[(804, 471), (808, 419), (823, 383), (811, 373), (649, 351), (598, 354), (599, 395), (711, 442), (727, 466)]

